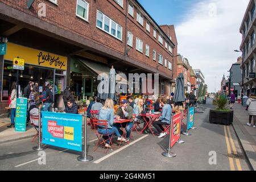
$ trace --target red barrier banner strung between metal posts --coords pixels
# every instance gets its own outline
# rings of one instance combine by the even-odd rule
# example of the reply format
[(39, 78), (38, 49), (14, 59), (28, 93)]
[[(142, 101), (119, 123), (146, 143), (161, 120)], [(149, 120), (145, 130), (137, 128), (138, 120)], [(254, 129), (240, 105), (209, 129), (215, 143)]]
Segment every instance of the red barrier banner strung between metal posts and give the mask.
[(172, 137), (171, 137), (171, 147), (179, 140), (180, 138), (180, 126), (181, 123), (181, 113), (175, 114), (174, 118), (172, 119)]

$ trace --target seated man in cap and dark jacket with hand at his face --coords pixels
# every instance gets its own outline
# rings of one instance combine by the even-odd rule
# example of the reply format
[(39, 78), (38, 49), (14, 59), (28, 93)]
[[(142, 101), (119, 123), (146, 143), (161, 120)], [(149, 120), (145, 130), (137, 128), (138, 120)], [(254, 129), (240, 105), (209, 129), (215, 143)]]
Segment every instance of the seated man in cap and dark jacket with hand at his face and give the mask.
[[(127, 100), (122, 100), (122, 105), (117, 110), (117, 115), (115, 118), (117, 119), (133, 119), (133, 107), (127, 104)], [(122, 124), (123, 126), (125, 123)], [(114, 126), (117, 127), (120, 134), (122, 134), (122, 130), (120, 129), (122, 127), (121, 123), (115, 123)], [(131, 122), (127, 123), (126, 126), (126, 142), (129, 142), (130, 135), (131, 135), (131, 129), (133, 128), (133, 120)]]

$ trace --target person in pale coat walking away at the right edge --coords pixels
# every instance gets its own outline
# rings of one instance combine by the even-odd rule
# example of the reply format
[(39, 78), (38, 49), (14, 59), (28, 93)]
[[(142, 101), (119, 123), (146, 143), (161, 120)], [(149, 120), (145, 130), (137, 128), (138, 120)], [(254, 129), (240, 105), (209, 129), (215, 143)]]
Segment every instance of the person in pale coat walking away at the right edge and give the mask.
[(253, 118), (253, 127), (256, 128), (256, 96), (255, 94), (251, 94), (250, 98), (246, 102), (248, 106), (248, 114), (249, 114), (249, 123), (247, 126), (251, 126), (251, 119)]

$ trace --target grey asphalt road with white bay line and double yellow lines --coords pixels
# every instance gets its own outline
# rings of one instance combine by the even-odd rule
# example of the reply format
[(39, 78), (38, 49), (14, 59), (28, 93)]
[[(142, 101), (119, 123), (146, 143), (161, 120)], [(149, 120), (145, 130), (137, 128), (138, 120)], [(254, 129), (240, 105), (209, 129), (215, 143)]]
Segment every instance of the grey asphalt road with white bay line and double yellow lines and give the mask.
[(120, 149), (115, 142), (115, 148), (106, 154), (93, 151), (97, 137), (94, 131), (88, 129), (87, 148), (88, 155), (94, 158), (92, 162), (77, 161), (81, 152), (65, 148), (47, 146), (43, 153), (34, 151), (32, 147), (37, 142), (26, 138), (0, 143), (0, 170), (250, 171), (250, 164), (233, 126), (210, 124), (211, 101), (204, 107), (207, 107), (204, 113), (195, 115), (197, 129), (189, 130), (191, 136), (181, 135), (185, 143), (176, 143), (171, 148), (175, 158), (162, 155), (167, 151), (168, 137), (159, 139), (136, 132), (130, 144), (123, 144)]

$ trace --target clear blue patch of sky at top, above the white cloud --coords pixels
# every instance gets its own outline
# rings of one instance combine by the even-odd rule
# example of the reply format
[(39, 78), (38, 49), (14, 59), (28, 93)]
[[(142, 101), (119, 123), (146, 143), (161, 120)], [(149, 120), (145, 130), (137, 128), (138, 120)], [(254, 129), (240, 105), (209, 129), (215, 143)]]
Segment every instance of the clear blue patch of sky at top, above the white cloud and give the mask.
[[(225, 1), (225, 0), (224, 0)], [(179, 24), (200, 0), (139, 0), (158, 24)]]

